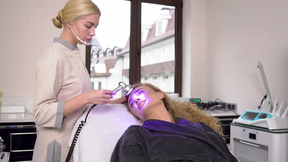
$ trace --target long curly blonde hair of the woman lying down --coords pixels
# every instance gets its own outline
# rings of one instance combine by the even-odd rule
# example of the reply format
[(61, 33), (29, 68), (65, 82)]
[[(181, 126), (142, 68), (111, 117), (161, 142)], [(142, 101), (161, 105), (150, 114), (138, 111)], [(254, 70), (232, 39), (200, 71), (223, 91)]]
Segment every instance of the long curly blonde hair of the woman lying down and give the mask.
[(205, 110), (200, 110), (196, 105), (188, 102), (174, 101), (169, 98), (160, 88), (150, 83), (136, 83), (132, 86), (133, 88), (137, 88), (143, 85), (150, 87), (155, 92), (162, 92), (164, 94), (164, 105), (175, 121), (177, 118), (182, 118), (192, 122), (203, 122), (209, 127), (211, 127), (214, 131), (219, 133), (222, 138), (225, 137), (225, 135), (223, 134), (223, 128), (220, 125), (220, 121), (215, 117), (209, 116)]

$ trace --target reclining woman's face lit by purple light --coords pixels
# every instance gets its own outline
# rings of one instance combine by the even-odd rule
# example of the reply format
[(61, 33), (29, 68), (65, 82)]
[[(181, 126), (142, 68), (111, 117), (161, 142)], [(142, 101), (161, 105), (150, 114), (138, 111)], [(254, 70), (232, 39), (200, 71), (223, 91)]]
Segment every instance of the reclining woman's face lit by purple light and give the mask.
[(149, 86), (139, 86), (131, 92), (128, 97), (129, 110), (142, 121), (149, 115), (149, 109), (163, 103), (164, 95), (161, 92), (155, 92)]

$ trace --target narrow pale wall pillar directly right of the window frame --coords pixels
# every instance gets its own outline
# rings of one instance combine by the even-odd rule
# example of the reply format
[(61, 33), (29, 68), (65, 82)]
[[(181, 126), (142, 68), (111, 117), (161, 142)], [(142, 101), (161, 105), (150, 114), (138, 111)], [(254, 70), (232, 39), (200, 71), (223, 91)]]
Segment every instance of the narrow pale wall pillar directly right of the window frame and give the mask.
[(184, 0), (182, 97), (207, 97), (207, 4)]

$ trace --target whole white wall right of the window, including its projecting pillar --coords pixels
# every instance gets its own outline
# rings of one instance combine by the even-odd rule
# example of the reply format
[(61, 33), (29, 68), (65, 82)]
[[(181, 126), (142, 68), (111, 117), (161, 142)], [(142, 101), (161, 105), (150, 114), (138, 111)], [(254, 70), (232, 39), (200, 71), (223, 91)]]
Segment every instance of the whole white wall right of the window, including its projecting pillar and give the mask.
[(287, 0), (184, 0), (183, 96), (255, 109), (266, 94), (288, 102)]

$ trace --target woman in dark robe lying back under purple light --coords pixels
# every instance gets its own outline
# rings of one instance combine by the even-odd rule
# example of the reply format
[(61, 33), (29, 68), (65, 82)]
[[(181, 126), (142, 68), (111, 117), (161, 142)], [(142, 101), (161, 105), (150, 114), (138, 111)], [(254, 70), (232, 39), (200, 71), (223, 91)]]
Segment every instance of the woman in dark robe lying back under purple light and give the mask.
[(144, 123), (124, 132), (110, 162), (238, 162), (216, 118), (149, 83), (133, 87), (127, 107)]

